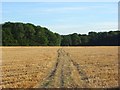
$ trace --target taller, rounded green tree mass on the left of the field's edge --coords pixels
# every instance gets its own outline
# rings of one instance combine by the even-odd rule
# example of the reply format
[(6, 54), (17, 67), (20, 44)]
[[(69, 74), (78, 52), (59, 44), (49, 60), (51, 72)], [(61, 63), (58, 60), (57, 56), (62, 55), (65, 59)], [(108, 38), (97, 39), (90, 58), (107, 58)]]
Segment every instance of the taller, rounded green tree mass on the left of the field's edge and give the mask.
[(61, 36), (45, 27), (27, 23), (2, 24), (3, 46), (59, 46)]

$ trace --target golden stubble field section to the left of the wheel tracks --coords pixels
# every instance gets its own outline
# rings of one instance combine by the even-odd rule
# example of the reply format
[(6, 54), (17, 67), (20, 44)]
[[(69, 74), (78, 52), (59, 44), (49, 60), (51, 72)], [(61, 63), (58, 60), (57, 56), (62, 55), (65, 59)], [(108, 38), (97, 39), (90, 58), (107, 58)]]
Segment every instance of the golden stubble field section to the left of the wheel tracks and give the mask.
[(2, 87), (31, 88), (42, 82), (56, 61), (56, 51), (50, 47), (2, 48)]

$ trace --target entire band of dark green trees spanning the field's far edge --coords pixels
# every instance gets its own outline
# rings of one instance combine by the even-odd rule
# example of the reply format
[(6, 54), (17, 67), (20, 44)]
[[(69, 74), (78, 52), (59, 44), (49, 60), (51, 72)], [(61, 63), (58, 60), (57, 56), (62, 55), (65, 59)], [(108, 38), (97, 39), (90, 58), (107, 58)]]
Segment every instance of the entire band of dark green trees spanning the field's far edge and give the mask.
[(118, 46), (120, 31), (59, 35), (30, 23), (6, 22), (2, 25), (3, 46)]

